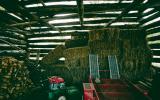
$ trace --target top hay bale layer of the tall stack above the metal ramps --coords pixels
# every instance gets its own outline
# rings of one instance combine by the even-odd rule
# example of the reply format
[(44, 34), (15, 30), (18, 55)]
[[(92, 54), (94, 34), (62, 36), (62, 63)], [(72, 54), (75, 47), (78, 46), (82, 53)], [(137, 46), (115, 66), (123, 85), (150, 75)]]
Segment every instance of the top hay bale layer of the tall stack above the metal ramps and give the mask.
[(89, 33), (89, 41), (102, 40), (112, 41), (119, 38), (120, 30), (117, 28), (106, 28), (103, 30), (93, 30)]

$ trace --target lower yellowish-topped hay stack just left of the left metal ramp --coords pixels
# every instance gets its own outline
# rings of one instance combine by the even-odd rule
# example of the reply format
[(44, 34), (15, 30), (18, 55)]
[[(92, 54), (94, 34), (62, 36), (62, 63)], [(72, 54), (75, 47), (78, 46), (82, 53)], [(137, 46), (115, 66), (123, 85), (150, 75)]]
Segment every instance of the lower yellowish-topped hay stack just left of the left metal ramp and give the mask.
[(69, 48), (64, 51), (65, 65), (70, 70), (73, 83), (88, 80), (88, 47)]

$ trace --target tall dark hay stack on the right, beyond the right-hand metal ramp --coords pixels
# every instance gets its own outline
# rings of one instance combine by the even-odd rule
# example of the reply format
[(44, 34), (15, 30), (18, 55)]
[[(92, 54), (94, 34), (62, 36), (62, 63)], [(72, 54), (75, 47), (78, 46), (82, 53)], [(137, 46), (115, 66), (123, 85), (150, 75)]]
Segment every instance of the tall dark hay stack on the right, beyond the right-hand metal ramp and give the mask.
[(147, 77), (150, 71), (151, 54), (142, 30), (121, 31), (121, 74), (135, 81)]

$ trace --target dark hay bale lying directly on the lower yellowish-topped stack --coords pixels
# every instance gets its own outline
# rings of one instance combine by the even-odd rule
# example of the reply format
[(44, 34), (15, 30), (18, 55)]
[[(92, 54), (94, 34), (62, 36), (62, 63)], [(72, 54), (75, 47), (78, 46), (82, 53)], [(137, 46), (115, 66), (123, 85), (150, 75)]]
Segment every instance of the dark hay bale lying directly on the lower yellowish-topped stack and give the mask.
[(88, 39), (76, 39), (65, 41), (66, 48), (83, 47), (88, 45)]

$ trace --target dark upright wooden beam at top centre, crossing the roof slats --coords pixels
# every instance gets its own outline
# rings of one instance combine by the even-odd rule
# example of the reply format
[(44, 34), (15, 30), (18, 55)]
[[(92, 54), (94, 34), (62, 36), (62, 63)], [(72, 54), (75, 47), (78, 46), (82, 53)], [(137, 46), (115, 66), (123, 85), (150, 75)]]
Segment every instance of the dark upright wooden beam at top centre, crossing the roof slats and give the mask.
[(80, 19), (80, 25), (83, 26), (84, 5), (83, 0), (76, 0), (78, 6), (78, 14)]

